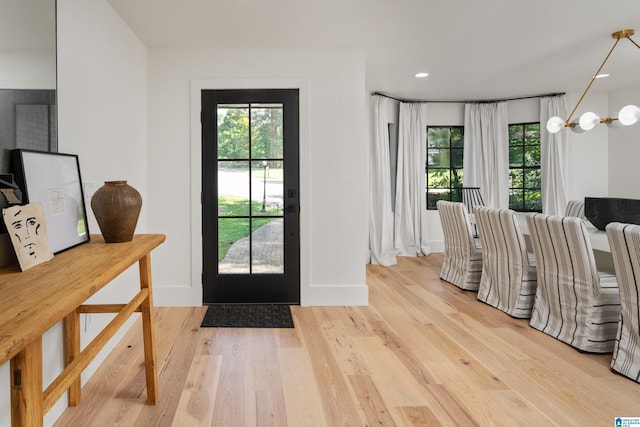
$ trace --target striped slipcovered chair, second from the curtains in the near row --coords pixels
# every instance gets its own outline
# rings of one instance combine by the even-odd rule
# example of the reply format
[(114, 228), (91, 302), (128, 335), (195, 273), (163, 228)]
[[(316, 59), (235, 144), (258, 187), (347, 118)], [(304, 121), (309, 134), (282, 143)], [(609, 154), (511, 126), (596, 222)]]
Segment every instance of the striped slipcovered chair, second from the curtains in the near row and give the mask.
[(509, 209), (475, 208), (482, 241), (482, 278), (478, 299), (518, 318), (531, 317), (537, 271), (533, 254)]

